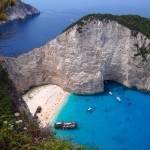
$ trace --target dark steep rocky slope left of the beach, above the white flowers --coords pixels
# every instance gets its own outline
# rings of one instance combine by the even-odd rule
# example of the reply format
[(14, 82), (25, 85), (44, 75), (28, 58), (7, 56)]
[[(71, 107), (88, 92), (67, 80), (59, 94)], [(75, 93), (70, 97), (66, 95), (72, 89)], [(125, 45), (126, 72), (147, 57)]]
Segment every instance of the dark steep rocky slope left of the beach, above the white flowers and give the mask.
[[(4, 105), (5, 103), (7, 103), (8, 107), (11, 107), (10, 109), (13, 112), (19, 111), (22, 114), (26, 114), (26, 116), (29, 119), (33, 119), (32, 114), (30, 113), (30, 110), (28, 108), (28, 105), (22, 99), (22, 95), (20, 95), (17, 92), (15, 85), (9, 79), (7, 72), (3, 69), (1, 64), (0, 64), (0, 100), (2, 103), (1, 108), (2, 106), (5, 106)], [(4, 104), (3, 104), (3, 101), (4, 101)]]

